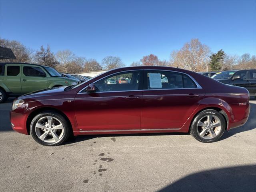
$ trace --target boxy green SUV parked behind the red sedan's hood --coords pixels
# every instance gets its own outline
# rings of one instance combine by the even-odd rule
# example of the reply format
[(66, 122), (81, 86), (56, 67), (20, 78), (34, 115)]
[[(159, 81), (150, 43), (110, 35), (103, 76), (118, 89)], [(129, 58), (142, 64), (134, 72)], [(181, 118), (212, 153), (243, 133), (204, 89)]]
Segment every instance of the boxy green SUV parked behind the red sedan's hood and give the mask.
[(79, 80), (62, 77), (51, 67), (28, 63), (0, 63), (0, 103), (10, 96), (78, 83)]

